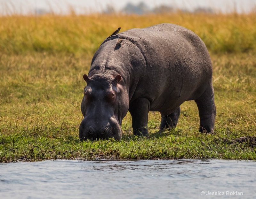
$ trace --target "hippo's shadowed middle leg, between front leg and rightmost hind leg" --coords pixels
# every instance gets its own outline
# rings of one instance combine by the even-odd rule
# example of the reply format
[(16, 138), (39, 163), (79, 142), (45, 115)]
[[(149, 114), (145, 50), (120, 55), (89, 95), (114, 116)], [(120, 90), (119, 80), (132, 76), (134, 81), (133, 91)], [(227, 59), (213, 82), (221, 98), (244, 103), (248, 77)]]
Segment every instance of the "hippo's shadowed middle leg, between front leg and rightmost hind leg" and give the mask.
[(160, 131), (165, 128), (175, 128), (180, 117), (180, 107), (173, 111), (170, 115), (161, 114)]

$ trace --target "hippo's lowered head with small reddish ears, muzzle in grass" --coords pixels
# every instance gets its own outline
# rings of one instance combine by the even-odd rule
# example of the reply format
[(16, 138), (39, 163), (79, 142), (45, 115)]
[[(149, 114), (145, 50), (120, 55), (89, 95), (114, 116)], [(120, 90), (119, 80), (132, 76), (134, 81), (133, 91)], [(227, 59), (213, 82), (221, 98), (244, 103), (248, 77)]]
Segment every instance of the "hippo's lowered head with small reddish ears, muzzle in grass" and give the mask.
[[(90, 75), (89, 75), (90, 76)], [(122, 120), (128, 112), (129, 98), (121, 75), (113, 72), (84, 75), (87, 86), (81, 111), (80, 140), (113, 137), (120, 140)]]

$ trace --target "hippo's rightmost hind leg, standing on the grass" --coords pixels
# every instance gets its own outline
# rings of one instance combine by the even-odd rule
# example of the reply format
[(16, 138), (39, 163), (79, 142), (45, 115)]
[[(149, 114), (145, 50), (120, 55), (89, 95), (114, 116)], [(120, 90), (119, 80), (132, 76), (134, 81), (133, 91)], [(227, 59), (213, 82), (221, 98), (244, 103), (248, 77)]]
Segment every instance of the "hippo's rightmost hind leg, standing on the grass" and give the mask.
[(208, 88), (195, 102), (200, 118), (199, 132), (214, 133), (216, 107), (213, 87)]

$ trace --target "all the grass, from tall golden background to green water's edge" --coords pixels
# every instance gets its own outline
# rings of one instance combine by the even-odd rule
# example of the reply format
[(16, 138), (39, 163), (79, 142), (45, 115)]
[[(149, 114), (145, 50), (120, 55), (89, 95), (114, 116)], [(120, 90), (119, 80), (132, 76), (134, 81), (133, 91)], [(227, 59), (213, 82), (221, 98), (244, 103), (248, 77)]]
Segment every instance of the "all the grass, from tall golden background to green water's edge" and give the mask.
[[(149, 113), (150, 138), (80, 142), (80, 103), (92, 55), (116, 29), (175, 23), (198, 34), (213, 64), (215, 133), (198, 132), (193, 101), (181, 106), (175, 130), (154, 134), (160, 114)], [(222, 158), (256, 160), (256, 14), (0, 17), (0, 162), (44, 159)], [(245, 136), (245, 138), (240, 138)], [(240, 138), (240, 139), (239, 139)]]

